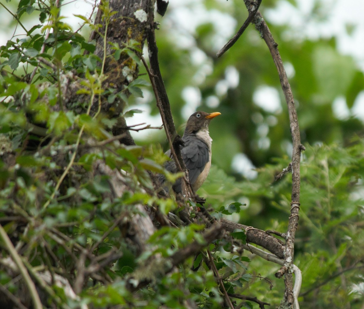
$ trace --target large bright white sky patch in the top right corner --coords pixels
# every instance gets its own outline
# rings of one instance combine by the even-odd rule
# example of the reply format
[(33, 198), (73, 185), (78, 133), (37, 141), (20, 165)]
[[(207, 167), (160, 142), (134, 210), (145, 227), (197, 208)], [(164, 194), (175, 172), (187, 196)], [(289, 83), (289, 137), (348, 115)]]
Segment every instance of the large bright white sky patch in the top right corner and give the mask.
[[(322, 15), (325, 16), (329, 12), (324, 19), (312, 14), (315, 0), (296, 2), (297, 8), (288, 1), (278, 1), (276, 7), (265, 10), (264, 15), (274, 24), (287, 24), (289, 30), (286, 36), (290, 39), (317, 40), (320, 37), (335, 36), (339, 52), (353, 56), (364, 70), (364, 1), (322, 0)], [(350, 33), (347, 31), (348, 26), (352, 28)]]

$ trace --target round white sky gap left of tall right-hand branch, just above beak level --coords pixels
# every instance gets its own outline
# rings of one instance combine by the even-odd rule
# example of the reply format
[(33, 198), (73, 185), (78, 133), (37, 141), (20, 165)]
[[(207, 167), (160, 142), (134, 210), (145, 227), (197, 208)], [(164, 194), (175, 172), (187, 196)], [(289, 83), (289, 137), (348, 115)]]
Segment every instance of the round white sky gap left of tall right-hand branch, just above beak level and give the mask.
[(254, 103), (267, 112), (276, 113), (282, 111), (281, 100), (276, 88), (260, 86), (254, 91)]

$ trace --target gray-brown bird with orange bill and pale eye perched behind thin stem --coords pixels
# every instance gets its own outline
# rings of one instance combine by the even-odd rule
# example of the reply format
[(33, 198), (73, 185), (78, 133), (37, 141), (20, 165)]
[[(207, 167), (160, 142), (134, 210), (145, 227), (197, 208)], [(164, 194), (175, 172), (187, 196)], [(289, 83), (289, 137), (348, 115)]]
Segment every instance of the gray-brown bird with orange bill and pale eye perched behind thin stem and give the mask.
[[(209, 134), (209, 124), (211, 119), (218, 115), (221, 115), (221, 113), (194, 112), (187, 120), (185, 132), (182, 136), (181, 154), (194, 192), (201, 187), (210, 171), (212, 139)], [(171, 158), (171, 151), (167, 151), (166, 155)], [(177, 166), (173, 159), (166, 161), (164, 168), (171, 173), (177, 173)], [(165, 182), (164, 175), (159, 175), (158, 179), (163, 185)], [(172, 189), (175, 193), (182, 192), (181, 178), (177, 179), (172, 185)]]

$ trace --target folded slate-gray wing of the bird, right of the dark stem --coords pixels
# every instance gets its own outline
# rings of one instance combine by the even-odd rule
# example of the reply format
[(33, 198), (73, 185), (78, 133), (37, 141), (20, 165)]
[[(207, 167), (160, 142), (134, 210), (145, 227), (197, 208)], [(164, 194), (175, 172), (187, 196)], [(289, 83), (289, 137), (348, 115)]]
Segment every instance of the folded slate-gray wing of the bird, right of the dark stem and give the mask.
[(182, 158), (188, 169), (190, 183), (193, 184), (209, 162), (209, 148), (201, 139), (193, 136), (183, 136), (183, 141), (186, 146), (182, 148)]

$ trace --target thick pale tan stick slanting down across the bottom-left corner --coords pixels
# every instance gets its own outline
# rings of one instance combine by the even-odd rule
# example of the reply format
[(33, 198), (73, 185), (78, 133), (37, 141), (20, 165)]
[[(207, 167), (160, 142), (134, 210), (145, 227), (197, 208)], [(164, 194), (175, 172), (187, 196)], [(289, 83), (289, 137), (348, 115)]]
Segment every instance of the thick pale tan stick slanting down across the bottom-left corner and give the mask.
[(23, 261), (21, 261), (19, 254), (16, 252), (13, 244), (11, 243), (11, 240), (10, 240), (8, 234), (5, 232), (3, 226), (1, 226), (1, 225), (0, 225), (0, 237), (1, 237), (1, 239), (3, 239), (4, 246), (9, 251), (9, 254), (11, 255), (13, 261), (15, 262), (17, 268), (19, 269), (21, 276), (23, 276), (25, 285), (29, 289), (29, 293), (32, 298), (34, 308), (42, 309), (43, 306), (40, 301), (37, 289), (35, 288), (34, 282), (32, 281), (31, 277), (29, 276), (29, 273), (27, 272), (27, 269), (25, 268)]

